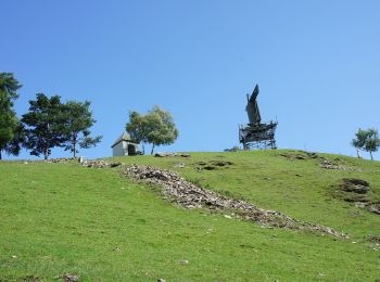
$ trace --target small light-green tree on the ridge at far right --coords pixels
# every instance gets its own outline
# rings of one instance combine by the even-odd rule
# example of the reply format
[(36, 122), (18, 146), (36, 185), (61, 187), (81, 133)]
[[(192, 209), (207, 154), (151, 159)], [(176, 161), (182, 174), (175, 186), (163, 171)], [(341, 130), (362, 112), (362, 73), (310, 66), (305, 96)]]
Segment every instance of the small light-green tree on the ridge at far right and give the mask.
[(358, 150), (369, 152), (371, 159), (373, 161), (373, 152), (377, 152), (380, 148), (380, 139), (378, 130), (370, 128), (368, 130), (358, 129), (356, 132), (356, 139), (353, 139), (352, 145)]

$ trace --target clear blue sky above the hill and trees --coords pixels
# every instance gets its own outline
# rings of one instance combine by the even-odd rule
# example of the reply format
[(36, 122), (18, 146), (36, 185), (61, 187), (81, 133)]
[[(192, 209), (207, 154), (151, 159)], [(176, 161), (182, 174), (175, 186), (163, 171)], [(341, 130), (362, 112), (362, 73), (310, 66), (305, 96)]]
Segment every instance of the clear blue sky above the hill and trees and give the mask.
[(88, 157), (155, 104), (180, 132), (159, 151), (231, 148), (255, 84), (279, 148), (355, 155), (357, 128), (380, 129), (379, 14), (377, 0), (3, 0), (0, 72), (24, 85), (18, 115), (37, 92), (90, 100), (103, 142)]

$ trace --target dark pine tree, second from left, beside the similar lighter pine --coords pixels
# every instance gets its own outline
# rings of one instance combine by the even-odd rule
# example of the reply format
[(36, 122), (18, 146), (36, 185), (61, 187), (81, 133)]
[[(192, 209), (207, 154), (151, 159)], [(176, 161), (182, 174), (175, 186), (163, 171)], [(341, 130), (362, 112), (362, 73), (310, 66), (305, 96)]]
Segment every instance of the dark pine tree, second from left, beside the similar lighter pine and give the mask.
[(29, 112), (21, 120), (26, 132), (24, 145), (31, 150), (30, 155), (43, 154), (48, 159), (52, 148), (64, 146), (65, 115), (59, 95), (49, 99), (38, 93), (36, 100), (29, 101)]

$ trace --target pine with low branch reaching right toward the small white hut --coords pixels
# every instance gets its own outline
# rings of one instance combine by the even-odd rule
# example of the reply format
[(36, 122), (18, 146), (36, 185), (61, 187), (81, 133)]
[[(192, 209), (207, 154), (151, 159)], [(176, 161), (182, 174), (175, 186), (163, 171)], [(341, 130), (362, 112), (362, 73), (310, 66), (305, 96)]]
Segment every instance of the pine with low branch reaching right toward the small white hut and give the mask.
[(90, 137), (89, 128), (93, 126), (96, 120), (92, 118), (90, 111), (90, 102), (84, 103), (77, 101), (67, 101), (64, 104), (65, 112), (65, 150), (69, 150), (73, 156), (76, 157), (78, 153), (77, 146), (88, 149), (96, 146), (102, 139), (101, 136)]

